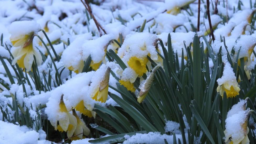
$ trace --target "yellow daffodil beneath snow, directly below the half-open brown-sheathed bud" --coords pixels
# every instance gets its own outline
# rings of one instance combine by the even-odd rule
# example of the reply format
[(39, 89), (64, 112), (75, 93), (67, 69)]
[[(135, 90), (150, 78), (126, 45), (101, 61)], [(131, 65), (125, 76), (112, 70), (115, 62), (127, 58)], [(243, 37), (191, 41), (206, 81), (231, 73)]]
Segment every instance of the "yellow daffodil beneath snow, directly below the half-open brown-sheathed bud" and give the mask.
[[(85, 106), (85, 105), (86, 105), (86, 106)], [(87, 107), (87, 108), (86, 108), (86, 107)], [(91, 107), (91, 106), (85, 104), (83, 100), (81, 100), (81, 102), (79, 102), (79, 103), (76, 105), (75, 109), (76, 109), (77, 111), (79, 111), (80, 113), (84, 114), (84, 115), (87, 115), (87, 116), (89, 116), (89, 117), (94, 117), (94, 118), (95, 118), (95, 115), (96, 115), (95, 111), (92, 110), (92, 107)]]

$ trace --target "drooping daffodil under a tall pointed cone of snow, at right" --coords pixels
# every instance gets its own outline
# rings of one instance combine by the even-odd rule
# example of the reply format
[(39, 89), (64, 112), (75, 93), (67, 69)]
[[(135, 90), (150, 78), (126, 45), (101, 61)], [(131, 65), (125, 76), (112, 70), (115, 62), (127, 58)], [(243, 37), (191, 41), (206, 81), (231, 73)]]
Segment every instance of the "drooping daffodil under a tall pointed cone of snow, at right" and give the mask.
[(223, 75), (221, 78), (217, 79), (217, 82), (217, 92), (219, 92), (222, 97), (224, 92), (226, 92), (227, 98), (232, 98), (239, 95), (240, 88), (230, 63), (225, 63)]

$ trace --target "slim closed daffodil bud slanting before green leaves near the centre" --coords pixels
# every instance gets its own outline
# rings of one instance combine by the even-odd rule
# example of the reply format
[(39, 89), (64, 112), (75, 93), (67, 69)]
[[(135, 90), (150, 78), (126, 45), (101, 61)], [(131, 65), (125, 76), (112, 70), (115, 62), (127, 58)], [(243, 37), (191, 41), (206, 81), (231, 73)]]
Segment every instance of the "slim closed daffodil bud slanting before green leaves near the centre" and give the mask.
[(137, 99), (139, 103), (141, 103), (146, 98), (147, 93), (150, 90), (151, 84), (153, 82), (154, 75), (159, 67), (160, 67), (159, 65), (154, 67), (154, 69), (152, 70), (151, 74), (147, 77), (147, 79), (141, 83), (140, 85), (141, 90), (138, 93), (138, 99)]

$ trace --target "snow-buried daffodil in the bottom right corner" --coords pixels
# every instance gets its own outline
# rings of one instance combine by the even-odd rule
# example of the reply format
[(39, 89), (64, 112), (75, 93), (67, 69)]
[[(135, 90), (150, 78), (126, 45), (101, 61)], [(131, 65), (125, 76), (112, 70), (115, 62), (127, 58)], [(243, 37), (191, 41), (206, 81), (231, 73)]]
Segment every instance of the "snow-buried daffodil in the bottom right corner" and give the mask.
[(247, 127), (248, 117), (252, 110), (246, 110), (246, 100), (241, 100), (233, 105), (227, 113), (225, 143), (227, 144), (249, 144), (249, 128)]

